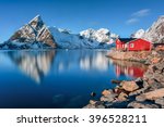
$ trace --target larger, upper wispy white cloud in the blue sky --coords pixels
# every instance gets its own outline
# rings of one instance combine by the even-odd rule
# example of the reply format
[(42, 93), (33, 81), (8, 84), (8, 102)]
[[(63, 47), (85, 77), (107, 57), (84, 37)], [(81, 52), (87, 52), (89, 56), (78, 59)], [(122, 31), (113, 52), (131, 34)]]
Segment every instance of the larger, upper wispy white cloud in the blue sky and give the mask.
[(132, 16), (137, 16), (137, 17), (147, 16), (150, 14), (150, 11), (151, 11), (150, 9), (143, 9), (143, 10), (132, 13)]

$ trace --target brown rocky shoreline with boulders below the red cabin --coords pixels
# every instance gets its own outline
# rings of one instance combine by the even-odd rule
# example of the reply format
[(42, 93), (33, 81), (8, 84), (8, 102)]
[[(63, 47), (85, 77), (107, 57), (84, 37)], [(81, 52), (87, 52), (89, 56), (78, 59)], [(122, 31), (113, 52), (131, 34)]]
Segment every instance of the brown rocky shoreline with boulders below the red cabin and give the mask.
[(164, 52), (127, 52), (129, 56), (119, 53), (110, 52), (109, 56), (142, 62), (149, 65), (147, 73), (142, 78), (122, 80), (116, 88), (105, 89), (99, 101), (90, 100), (84, 109), (164, 109)]

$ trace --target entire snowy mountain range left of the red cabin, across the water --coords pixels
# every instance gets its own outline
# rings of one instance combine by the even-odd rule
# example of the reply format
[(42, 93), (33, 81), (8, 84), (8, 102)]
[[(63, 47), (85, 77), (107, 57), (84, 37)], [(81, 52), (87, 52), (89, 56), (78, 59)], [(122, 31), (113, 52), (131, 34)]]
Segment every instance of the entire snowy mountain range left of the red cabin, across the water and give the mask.
[[(90, 36), (89, 36), (90, 35)], [(70, 30), (47, 27), (42, 17), (37, 15), (30, 23), (15, 31), (11, 38), (0, 48), (3, 49), (40, 49), (40, 48), (63, 48), (63, 49), (102, 49), (112, 47), (117, 37), (110, 37), (108, 29), (87, 29), (80, 34), (71, 34)], [(113, 41), (112, 41), (113, 40)]]

